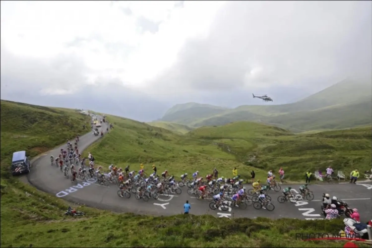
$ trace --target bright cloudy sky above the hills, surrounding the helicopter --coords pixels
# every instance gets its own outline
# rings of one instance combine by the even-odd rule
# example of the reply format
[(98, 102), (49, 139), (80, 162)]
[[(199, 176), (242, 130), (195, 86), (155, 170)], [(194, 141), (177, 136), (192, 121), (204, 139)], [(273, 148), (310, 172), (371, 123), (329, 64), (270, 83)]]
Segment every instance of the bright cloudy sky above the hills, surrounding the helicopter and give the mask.
[[(1, 1), (1, 99), (142, 122), (372, 68), (372, 1)], [(358, 79), (356, 79), (358, 80)]]

